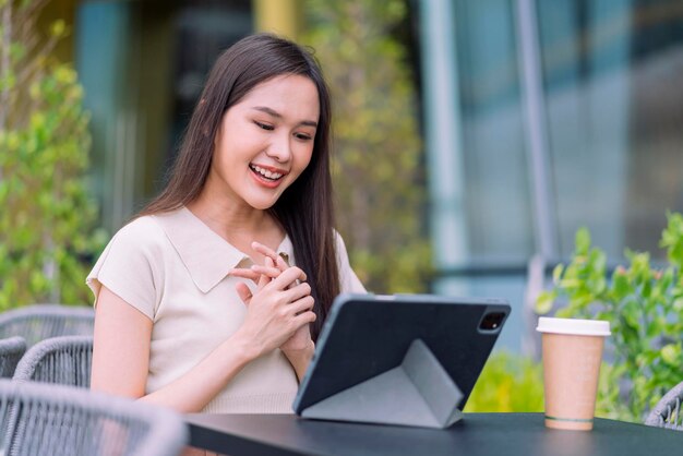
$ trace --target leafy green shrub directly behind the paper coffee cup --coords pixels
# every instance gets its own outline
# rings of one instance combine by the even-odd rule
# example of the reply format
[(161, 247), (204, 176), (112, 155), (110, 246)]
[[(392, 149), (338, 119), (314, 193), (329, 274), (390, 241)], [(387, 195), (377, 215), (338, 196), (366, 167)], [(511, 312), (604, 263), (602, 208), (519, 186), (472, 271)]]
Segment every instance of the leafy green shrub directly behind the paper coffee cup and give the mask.
[(660, 247), (668, 264), (654, 267), (649, 253), (626, 250), (627, 266), (608, 277), (606, 254), (590, 244), (586, 228), (576, 232), (568, 265), (553, 272), (554, 287), (537, 300), (537, 311), (551, 310), (559, 298), (568, 304), (558, 316), (610, 322), (608, 360), (599, 392), (599, 409), (614, 418), (642, 421), (669, 388), (683, 380), (683, 216), (667, 214)]

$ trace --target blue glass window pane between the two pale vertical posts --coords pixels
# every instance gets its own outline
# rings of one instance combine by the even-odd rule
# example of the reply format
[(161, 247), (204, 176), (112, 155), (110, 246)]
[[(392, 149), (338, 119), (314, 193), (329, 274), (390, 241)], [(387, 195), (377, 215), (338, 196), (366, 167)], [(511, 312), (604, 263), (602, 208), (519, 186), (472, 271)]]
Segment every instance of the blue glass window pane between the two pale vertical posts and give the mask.
[(455, 3), (469, 255), (524, 264), (534, 251), (512, 3)]

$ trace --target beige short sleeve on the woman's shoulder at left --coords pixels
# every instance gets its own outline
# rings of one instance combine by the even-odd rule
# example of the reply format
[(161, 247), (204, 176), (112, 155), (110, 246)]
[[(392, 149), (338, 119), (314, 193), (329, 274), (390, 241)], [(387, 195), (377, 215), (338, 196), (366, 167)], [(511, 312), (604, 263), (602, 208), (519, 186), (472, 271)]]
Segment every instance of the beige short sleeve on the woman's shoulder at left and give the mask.
[(154, 321), (163, 273), (163, 254), (157, 244), (163, 238), (161, 229), (151, 217), (141, 217), (121, 228), (85, 280), (95, 295), (95, 305), (104, 285)]

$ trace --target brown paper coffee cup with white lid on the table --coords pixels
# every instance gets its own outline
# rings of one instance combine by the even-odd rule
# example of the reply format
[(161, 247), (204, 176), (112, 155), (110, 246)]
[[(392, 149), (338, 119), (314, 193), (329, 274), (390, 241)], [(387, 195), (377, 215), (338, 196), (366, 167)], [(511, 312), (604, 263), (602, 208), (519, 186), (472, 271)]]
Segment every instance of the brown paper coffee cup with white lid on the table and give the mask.
[(546, 427), (591, 430), (610, 323), (541, 316), (536, 331), (542, 333)]

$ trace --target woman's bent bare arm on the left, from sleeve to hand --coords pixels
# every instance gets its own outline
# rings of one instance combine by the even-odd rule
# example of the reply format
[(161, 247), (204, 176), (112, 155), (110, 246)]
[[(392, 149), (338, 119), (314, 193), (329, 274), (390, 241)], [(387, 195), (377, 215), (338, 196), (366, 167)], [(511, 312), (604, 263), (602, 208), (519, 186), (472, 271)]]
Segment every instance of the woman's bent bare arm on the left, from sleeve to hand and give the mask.
[(287, 288), (299, 271), (261, 283), (250, 298), (242, 326), (188, 373), (145, 395), (152, 321), (101, 287), (97, 299), (92, 388), (196, 412), (204, 408), (250, 361), (277, 348), (315, 319), (305, 288)]

